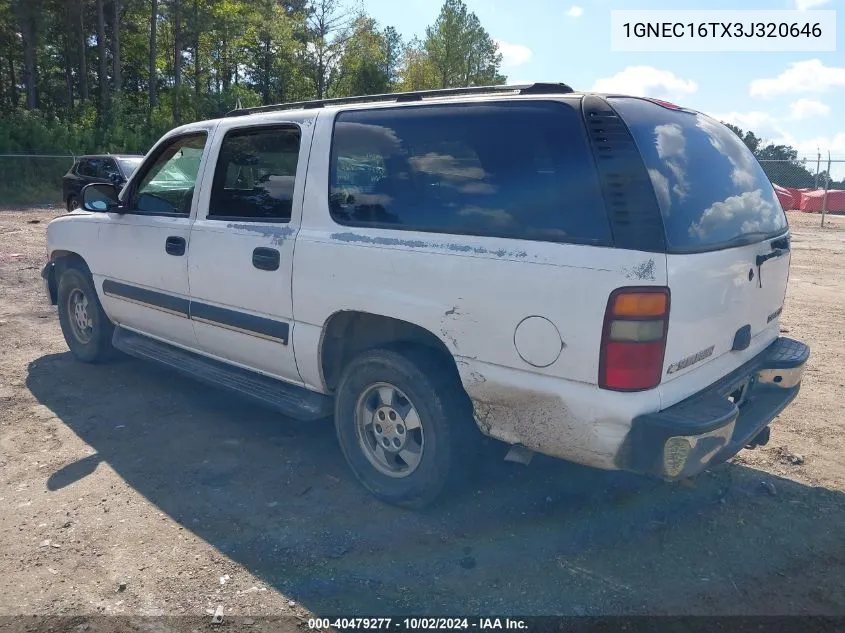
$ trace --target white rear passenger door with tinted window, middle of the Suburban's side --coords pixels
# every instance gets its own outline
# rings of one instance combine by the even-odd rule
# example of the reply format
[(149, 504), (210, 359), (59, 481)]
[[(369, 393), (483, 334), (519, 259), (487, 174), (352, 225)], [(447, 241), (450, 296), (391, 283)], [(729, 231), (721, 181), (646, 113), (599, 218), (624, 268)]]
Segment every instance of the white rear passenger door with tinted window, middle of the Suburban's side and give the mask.
[(215, 357), (301, 382), (290, 344), (291, 271), (310, 129), (233, 127), (220, 137), (191, 230), (197, 341)]

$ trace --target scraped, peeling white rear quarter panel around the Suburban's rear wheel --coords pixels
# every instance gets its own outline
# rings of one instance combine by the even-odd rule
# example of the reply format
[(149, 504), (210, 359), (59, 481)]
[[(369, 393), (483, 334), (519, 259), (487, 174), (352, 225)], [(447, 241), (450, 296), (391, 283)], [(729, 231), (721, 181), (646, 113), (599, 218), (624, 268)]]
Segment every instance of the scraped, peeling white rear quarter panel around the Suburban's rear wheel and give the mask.
[[(332, 118), (330, 111), (318, 117), (296, 239), (293, 337), (306, 384), (321, 384), (310, 348), (331, 315), (358, 310), (401, 319), (452, 353), (484, 432), (611, 467), (631, 407), (595, 387), (604, 311), (616, 288), (665, 285), (665, 256), (341, 226), (328, 204)], [(515, 348), (516, 328), (530, 316), (548, 319), (560, 334), (548, 341), (562, 352), (547, 367), (532, 367)], [(654, 400), (640, 404), (659, 408)]]

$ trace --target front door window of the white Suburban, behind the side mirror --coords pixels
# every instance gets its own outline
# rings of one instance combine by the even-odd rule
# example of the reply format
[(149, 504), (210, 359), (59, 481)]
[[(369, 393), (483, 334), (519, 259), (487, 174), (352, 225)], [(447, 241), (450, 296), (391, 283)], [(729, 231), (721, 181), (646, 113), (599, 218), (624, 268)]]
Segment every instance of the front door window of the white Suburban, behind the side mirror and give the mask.
[(132, 210), (190, 215), (206, 138), (205, 133), (181, 136), (160, 150), (138, 183)]

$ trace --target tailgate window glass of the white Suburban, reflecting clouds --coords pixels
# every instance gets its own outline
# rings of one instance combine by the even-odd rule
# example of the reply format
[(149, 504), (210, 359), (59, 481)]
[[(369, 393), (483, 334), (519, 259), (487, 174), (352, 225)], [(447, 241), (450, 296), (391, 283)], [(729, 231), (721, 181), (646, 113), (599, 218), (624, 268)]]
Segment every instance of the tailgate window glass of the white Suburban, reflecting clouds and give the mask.
[(642, 99), (609, 101), (643, 156), (671, 251), (740, 246), (786, 230), (771, 182), (727, 127)]

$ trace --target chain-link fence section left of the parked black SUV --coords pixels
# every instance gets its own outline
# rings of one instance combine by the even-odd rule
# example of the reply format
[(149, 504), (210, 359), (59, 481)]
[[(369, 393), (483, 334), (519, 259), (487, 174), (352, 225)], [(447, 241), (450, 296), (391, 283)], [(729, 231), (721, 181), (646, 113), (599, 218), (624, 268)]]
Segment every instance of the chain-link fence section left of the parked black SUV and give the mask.
[(63, 206), (72, 154), (0, 154), (0, 206)]

